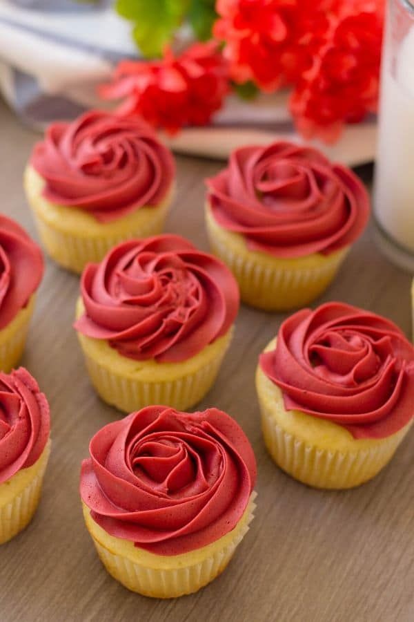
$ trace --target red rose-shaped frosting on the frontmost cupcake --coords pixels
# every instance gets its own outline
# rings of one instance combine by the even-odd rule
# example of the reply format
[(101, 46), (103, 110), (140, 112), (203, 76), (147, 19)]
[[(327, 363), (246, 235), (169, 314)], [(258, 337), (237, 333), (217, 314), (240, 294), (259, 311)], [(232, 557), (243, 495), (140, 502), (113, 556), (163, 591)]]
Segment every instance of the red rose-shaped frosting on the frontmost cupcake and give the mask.
[(158, 555), (193, 551), (234, 529), (256, 480), (246, 435), (217, 408), (148, 406), (101, 428), (89, 450), (80, 493), (92, 518)]

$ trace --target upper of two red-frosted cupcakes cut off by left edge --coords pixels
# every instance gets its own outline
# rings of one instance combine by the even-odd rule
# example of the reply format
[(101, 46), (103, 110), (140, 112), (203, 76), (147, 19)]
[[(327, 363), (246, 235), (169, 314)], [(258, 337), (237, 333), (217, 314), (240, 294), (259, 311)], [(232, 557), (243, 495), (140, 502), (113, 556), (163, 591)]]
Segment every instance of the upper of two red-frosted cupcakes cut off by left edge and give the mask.
[(0, 214), (0, 370), (9, 372), (21, 359), (42, 276), (39, 247)]

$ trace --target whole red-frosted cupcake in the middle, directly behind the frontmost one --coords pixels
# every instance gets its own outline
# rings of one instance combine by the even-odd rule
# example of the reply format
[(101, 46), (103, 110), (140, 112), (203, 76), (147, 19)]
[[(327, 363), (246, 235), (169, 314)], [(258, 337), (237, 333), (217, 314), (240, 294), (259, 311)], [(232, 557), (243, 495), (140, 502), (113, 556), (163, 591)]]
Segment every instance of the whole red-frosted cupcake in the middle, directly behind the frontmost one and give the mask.
[(119, 244), (81, 278), (75, 328), (93, 386), (127, 413), (190, 408), (215, 381), (238, 308), (226, 265), (184, 238)]

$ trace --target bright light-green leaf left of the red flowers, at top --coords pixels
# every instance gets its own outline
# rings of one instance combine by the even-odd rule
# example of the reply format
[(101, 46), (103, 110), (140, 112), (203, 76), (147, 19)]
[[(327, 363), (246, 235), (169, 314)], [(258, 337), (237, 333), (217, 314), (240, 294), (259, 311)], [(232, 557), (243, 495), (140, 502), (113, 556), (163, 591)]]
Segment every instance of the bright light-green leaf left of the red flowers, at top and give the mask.
[(132, 36), (146, 57), (160, 56), (188, 9), (189, 0), (117, 0), (121, 17), (134, 22)]

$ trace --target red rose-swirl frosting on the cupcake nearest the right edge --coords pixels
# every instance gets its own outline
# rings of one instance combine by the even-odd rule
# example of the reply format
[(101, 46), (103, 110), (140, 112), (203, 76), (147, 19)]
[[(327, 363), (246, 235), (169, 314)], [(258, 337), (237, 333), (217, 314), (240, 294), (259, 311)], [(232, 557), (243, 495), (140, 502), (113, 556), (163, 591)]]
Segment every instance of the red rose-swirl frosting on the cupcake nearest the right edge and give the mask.
[(259, 359), (286, 410), (384, 438), (414, 415), (414, 348), (388, 319), (342, 303), (304, 309), (280, 327)]

